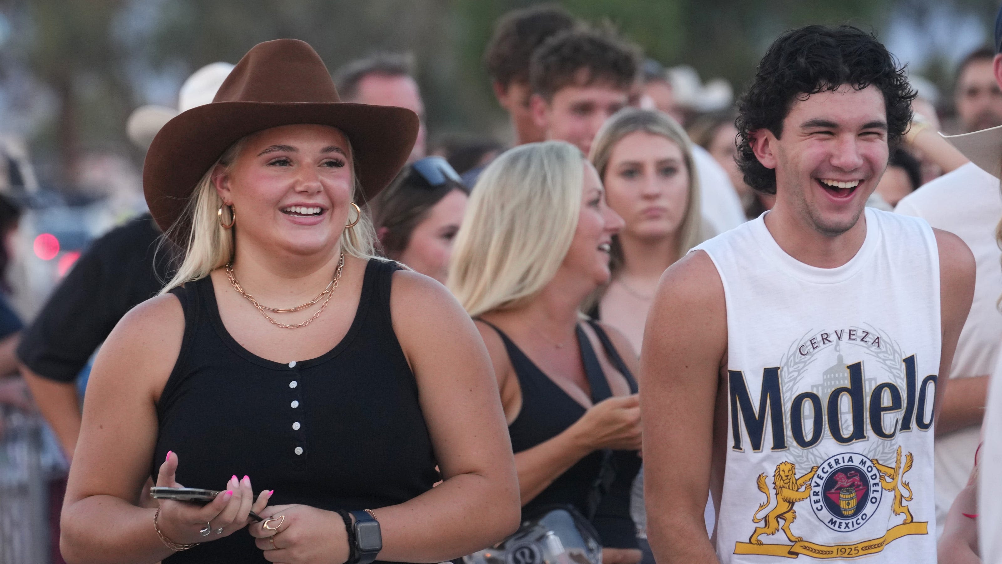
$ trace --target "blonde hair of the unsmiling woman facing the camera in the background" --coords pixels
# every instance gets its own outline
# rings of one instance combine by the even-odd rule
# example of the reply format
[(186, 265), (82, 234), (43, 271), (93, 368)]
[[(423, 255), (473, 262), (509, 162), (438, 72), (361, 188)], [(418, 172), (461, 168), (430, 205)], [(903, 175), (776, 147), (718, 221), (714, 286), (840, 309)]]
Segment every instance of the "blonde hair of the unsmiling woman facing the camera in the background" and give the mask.
[[(695, 162), (692, 159), (692, 141), (689, 140), (685, 130), (671, 116), (657, 110), (623, 108), (614, 113), (602, 124), (602, 127), (595, 135), (595, 141), (591, 144), (591, 154), (588, 159), (598, 170), (598, 176), (605, 182), (605, 172), (608, 169), (609, 159), (612, 157), (612, 150), (626, 135), (636, 131), (643, 131), (651, 135), (659, 135), (678, 145), (682, 151), (682, 160), (688, 171), (689, 189), (688, 203), (685, 205), (685, 212), (682, 215), (682, 222), (678, 226), (678, 241), (676, 247), (676, 257), (683, 256), (688, 249), (702, 242), (700, 227), (702, 225), (702, 214), (699, 209), (699, 176), (696, 173)], [(619, 244), (618, 235), (612, 237), (612, 260), (610, 266), (613, 275), (622, 268), (625, 256), (623, 256), (622, 245)]]

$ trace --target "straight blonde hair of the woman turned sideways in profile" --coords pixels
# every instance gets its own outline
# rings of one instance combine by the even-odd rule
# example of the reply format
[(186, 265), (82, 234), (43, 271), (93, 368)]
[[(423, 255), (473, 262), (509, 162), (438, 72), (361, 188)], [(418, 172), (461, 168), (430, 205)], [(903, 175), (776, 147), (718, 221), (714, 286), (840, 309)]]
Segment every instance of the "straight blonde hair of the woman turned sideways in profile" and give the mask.
[(553, 279), (577, 229), (584, 163), (570, 143), (528, 143), (480, 175), (449, 268), (470, 316), (518, 308)]

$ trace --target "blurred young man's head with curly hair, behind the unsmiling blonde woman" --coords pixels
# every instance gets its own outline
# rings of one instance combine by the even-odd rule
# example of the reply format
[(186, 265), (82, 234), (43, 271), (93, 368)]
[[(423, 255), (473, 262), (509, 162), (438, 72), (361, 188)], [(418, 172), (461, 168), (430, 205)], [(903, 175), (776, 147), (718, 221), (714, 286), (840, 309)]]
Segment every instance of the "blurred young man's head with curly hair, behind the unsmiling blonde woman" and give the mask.
[(532, 115), (547, 139), (588, 154), (599, 127), (627, 105), (638, 49), (611, 30), (573, 29), (539, 46), (529, 62)]

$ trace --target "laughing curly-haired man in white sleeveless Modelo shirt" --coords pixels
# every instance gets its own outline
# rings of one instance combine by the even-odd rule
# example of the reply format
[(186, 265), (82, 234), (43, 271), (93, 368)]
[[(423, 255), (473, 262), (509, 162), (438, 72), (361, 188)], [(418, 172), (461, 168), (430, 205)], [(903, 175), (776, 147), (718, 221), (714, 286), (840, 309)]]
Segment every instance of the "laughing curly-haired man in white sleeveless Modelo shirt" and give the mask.
[[(787, 32), (763, 58), (740, 101), (738, 160), (776, 205), (675, 262), (647, 319), (659, 563), (935, 562), (934, 407), (974, 258), (923, 219), (865, 207), (913, 97), (854, 27)], [(779, 483), (780, 469), (806, 489)]]

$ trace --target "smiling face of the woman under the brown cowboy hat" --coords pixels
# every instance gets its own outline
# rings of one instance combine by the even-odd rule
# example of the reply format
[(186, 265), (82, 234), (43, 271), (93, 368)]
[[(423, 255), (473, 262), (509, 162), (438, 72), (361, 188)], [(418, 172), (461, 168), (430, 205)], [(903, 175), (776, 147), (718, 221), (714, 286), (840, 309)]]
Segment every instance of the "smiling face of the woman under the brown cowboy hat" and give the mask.
[(297, 124), (254, 133), (228, 168), (216, 168), (212, 181), (235, 210), (238, 239), (257, 247), (333, 252), (345, 224), (355, 219), (349, 211), (351, 147), (334, 127)]

